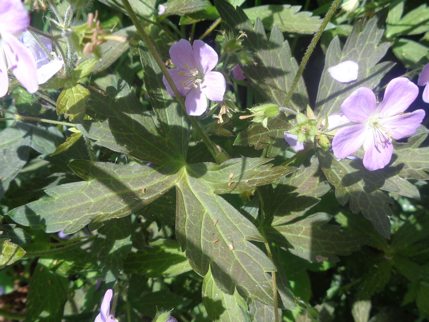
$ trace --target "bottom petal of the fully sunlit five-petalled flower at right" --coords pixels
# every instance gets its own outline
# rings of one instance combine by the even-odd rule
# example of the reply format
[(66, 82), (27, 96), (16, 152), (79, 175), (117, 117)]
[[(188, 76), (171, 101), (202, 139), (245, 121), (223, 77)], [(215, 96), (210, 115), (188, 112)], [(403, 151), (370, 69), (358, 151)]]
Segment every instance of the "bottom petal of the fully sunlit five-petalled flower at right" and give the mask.
[(392, 142), (382, 131), (369, 131), (363, 148), (363, 165), (370, 171), (384, 168), (392, 158)]

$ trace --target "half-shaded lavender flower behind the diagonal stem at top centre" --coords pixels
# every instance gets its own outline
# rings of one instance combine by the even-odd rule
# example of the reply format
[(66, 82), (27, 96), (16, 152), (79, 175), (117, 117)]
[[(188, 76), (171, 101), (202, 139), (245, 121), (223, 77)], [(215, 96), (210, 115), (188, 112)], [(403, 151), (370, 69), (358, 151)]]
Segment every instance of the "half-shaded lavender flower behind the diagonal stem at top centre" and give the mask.
[[(170, 58), (178, 69), (169, 69), (169, 74), (177, 86), (180, 95), (185, 98), (185, 107), (189, 115), (201, 115), (207, 108), (207, 98), (211, 101), (224, 99), (224, 76), (211, 72), (218, 64), (218, 54), (201, 40), (193, 42), (193, 48), (185, 39), (180, 39), (170, 47)], [(163, 77), (164, 85), (170, 95), (175, 96), (170, 85)]]

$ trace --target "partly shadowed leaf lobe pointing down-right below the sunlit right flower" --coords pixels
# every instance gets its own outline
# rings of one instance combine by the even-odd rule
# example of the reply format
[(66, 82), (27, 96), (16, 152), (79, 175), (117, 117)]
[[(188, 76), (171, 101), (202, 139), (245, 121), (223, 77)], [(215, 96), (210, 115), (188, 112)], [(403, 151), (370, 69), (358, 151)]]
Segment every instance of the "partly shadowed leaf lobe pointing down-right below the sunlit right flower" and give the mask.
[(349, 201), (354, 214), (362, 212), (381, 235), (390, 238), (389, 216), (392, 210), (388, 204), (393, 200), (380, 190), (385, 183), (383, 174), (366, 170), (361, 161), (338, 161), (332, 153), (321, 149), (317, 155), (326, 179), (335, 186), (338, 202), (344, 206)]

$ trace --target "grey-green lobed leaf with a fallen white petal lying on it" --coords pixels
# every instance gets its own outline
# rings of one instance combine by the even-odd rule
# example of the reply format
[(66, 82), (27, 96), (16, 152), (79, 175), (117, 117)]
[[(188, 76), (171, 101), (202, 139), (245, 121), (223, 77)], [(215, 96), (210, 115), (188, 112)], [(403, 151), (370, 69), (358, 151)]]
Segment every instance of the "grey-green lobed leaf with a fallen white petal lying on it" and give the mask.
[[(383, 17), (380, 13), (367, 21), (358, 22), (342, 50), (338, 36), (332, 39), (326, 51), (325, 67), (317, 92), (316, 115), (341, 113), (341, 104), (347, 96), (358, 87), (374, 89), (393, 67), (394, 64), (390, 62), (377, 64), (390, 47), (388, 42), (380, 43), (383, 36), (381, 24)], [(328, 73), (330, 67), (346, 60), (353, 60), (359, 65), (358, 78), (352, 83), (340, 83)]]

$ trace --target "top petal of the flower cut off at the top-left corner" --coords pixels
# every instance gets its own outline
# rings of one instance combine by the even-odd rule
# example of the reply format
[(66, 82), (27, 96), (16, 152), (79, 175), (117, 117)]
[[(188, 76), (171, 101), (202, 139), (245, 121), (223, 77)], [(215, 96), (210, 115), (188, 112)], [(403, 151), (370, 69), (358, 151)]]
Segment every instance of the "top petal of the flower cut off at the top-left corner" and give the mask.
[(21, 0), (1, 0), (0, 3), (2, 37), (5, 33), (22, 33), (30, 26), (30, 16)]

